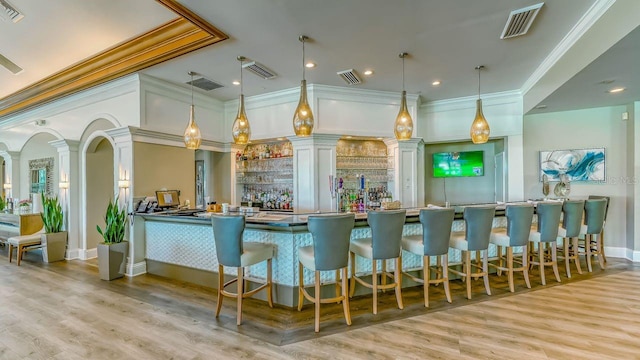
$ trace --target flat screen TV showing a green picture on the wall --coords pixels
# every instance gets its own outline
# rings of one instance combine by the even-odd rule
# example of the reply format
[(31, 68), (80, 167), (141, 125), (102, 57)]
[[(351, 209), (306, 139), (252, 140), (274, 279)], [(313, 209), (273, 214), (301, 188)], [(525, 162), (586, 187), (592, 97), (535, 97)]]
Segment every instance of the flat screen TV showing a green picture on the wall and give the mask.
[(452, 151), (433, 154), (433, 177), (484, 176), (484, 151)]

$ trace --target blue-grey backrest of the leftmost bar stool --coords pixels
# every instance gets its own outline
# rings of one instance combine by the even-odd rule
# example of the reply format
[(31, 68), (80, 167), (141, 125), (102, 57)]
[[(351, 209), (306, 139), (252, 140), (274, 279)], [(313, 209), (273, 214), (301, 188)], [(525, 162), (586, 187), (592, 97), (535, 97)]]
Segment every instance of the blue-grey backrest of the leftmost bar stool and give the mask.
[(224, 266), (242, 266), (242, 234), (244, 233), (244, 215), (211, 216), (213, 237), (216, 242), (218, 263)]

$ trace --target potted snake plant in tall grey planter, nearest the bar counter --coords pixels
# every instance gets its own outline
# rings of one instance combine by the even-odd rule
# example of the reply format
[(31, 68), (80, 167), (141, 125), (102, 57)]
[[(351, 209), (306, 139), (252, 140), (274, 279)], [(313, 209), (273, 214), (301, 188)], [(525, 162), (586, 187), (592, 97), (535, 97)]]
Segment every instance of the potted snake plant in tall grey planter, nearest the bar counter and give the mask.
[(113, 280), (124, 276), (129, 253), (129, 242), (124, 241), (127, 212), (125, 208), (118, 207), (118, 197), (113, 202), (109, 201), (104, 222), (104, 229), (96, 225), (104, 239), (98, 244), (98, 269), (100, 279)]

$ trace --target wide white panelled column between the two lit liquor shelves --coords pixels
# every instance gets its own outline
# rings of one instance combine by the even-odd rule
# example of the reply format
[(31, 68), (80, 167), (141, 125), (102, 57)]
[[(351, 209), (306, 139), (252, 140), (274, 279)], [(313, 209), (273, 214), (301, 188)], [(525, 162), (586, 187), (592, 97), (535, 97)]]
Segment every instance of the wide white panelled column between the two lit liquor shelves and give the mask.
[(334, 211), (329, 175), (336, 174), (339, 135), (288, 138), (293, 145), (293, 201), (296, 212)]

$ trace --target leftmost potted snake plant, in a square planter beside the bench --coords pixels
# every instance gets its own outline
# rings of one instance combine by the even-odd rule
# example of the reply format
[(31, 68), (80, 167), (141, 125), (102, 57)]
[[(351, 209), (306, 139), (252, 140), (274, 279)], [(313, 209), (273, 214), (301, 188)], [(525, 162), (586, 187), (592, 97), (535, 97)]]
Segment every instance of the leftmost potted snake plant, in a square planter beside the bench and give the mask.
[(42, 260), (44, 262), (54, 262), (64, 260), (67, 250), (67, 232), (62, 231), (64, 215), (62, 206), (57, 197), (42, 197), (42, 225), (44, 234), (41, 236)]

